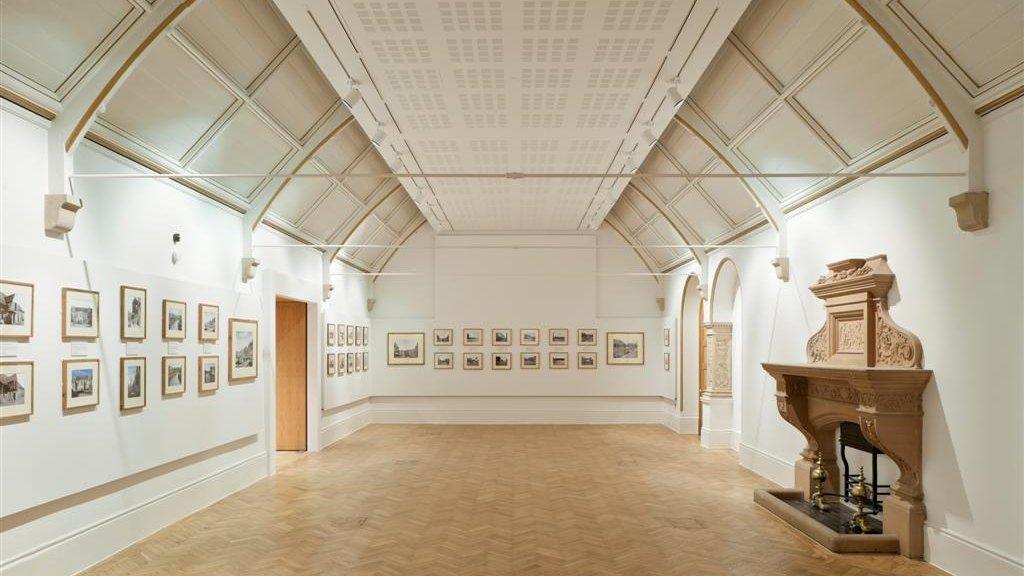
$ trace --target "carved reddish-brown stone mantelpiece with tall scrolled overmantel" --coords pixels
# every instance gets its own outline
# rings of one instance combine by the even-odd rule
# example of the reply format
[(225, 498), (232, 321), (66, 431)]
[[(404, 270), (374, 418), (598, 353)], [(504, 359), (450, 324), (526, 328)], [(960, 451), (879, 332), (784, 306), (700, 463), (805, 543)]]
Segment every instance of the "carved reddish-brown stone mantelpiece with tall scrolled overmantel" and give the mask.
[(932, 378), (921, 369), (916, 336), (889, 317), (895, 276), (885, 255), (828, 264), (811, 286), (824, 300), (824, 326), (807, 341), (807, 364), (762, 366), (775, 379), (779, 414), (807, 440), (796, 464), (796, 485), (811, 493), (810, 470), (821, 456), (827, 492), (837, 492), (836, 428), (860, 424), (864, 438), (899, 467), (883, 504), (883, 532), (899, 538), (900, 553), (924, 553), (921, 396)]

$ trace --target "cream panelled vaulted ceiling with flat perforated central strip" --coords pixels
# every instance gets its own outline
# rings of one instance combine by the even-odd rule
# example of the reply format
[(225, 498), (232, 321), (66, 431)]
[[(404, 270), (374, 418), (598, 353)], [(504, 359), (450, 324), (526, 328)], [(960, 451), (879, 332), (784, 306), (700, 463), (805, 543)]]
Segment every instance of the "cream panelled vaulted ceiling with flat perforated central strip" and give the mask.
[[(0, 0), (0, 95), (60, 114), (129, 32), (177, 1)], [(979, 114), (1020, 95), (1019, 0), (859, 1), (879, 2)], [(458, 233), (601, 220), (637, 245), (726, 243), (765, 225), (766, 203), (784, 212), (848, 180), (693, 174), (871, 169), (945, 133), (851, 2), (755, 0), (730, 22), (742, 3), (314, 0), (304, 11), (195, 0), (88, 137), (157, 171), (381, 174), (178, 180), (240, 212), (266, 210), (264, 223), (312, 244), (396, 245), (425, 223)], [(716, 17), (730, 22), (720, 33)], [(664, 96), (677, 75), (688, 96), (672, 111)], [(339, 97), (349, 77), (362, 94), (351, 110)], [(378, 121), (386, 146), (367, 136)], [(647, 121), (653, 146), (640, 136)], [(387, 175), (631, 163), (642, 165), (629, 181)], [(691, 176), (644, 175), (666, 172)], [(377, 270), (392, 251), (340, 257)], [(652, 270), (691, 257), (640, 253)]]

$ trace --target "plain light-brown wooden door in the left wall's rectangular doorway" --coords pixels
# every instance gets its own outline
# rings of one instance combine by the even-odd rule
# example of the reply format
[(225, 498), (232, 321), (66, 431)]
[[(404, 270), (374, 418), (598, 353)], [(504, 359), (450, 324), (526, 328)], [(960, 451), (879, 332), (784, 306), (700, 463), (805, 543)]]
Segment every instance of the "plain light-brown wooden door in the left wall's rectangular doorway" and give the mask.
[(278, 450), (306, 449), (306, 304), (278, 300)]

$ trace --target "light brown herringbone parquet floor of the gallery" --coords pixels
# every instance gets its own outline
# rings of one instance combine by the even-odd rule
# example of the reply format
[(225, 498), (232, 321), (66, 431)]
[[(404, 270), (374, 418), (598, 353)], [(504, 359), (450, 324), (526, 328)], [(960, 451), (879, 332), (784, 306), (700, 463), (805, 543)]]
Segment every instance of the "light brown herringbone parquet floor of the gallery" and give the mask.
[(943, 574), (828, 552), (754, 504), (768, 484), (657, 426), (374, 425), (87, 574)]

